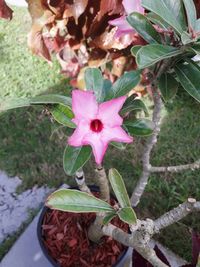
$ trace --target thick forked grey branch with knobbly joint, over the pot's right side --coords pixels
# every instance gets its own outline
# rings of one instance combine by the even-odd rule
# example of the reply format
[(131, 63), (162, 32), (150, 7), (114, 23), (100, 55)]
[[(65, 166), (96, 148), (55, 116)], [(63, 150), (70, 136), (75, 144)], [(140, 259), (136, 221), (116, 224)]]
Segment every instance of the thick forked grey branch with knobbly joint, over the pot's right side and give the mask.
[(125, 246), (134, 248), (153, 266), (166, 267), (167, 265), (156, 256), (155, 251), (149, 245), (152, 236), (195, 211), (200, 212), (200, 201), (197, 202), (195, 199), (189, 198), (185, 203), (180, 204), (155, 221), (150, 219), (146, 219), (145, 221), (138, 220), (131, 234), (125, 233), (112, 224), (104, 226), (102, 233), (112, 237)]

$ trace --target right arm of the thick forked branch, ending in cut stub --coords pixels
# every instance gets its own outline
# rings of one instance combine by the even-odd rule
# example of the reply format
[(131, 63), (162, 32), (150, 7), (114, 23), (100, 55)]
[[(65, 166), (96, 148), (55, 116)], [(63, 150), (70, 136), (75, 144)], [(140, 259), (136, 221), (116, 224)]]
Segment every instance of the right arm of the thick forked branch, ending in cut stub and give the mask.
[(200, 211), (200, 201), (197, 202), (195, 199), (189, 198), (185, 203), (180, 204), (178, 207), (165, 213), (160, 218), (155, 220), (155, 232), (159, 232), (163, 228), (182, 220), (188, 214), (194, 211)]

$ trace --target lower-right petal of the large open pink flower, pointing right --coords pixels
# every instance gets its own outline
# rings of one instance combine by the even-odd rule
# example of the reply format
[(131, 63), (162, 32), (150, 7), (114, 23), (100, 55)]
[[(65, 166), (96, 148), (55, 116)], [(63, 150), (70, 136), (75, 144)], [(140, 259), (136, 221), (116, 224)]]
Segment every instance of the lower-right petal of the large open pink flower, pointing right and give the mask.
[(132, 143), (133, 137), (128, 135), (121, 127), (105, 128), (101, 133), (101, 140), (105, 143), (111, 141), (121, 143)]

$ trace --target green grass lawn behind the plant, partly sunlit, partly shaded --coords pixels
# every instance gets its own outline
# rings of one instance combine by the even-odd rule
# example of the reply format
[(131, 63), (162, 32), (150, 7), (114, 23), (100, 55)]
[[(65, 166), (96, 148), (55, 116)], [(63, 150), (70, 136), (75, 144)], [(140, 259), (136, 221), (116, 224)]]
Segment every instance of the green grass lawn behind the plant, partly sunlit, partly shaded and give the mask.
[[(50, 68), (42, 59), (31, 55), (26, 46), (29, 16), (23, 9), (15, 11), (13, 21), (0, 22), (0, 97), (33, 96), (46, 91), (69, 93), (67, 79), (59, 74), (58, 64)], [(162, 131), (153, 151), (152, 164), (177, 165), (199, 159), (199, 121), (199, 105), (179, 92), (179, 97), (163, 112)], [(63, 181), (74, 183), (62, 169), (65, 130), (55, 131), (55, 127), (40, 107), (10, 111), (0, 116), (0, 169), (23, 179), (19, 191), (35, 184), (57, 187)], [(136, 138), (128, 150), (117, 152), (112, 148), (106, 155), (106, 168), (115, 167), (122, 173), (130, 194), (141, 172), (139, 159), (143, 144), (144, 139)], [(86, 174), (91, 181), (91, 162), (86, 166)], [(152, 175), (137, 208), (138, 214), (156, 218), (188, 197), (200, 199), (199, 177), (197, 170)], [(195, 215), (163, 231), (159, 240), (190, 259), (192, 229), (200, 232), (199, 219)], [(5, 244), (0, 248), (0, 255), (12, 242)]]

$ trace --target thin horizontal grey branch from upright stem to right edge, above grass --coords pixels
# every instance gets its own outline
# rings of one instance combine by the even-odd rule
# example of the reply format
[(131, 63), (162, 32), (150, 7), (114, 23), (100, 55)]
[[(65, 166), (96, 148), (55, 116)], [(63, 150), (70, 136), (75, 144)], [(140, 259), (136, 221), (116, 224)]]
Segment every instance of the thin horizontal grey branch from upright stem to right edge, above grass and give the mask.
[(196, 170), (200, 169), (200, 160), (195, 161), (194, 163), (178, 165), (178, 166), (166, 166), (166, 167), (150, 167), (150, 172), (181, 172), (185, 170)]

